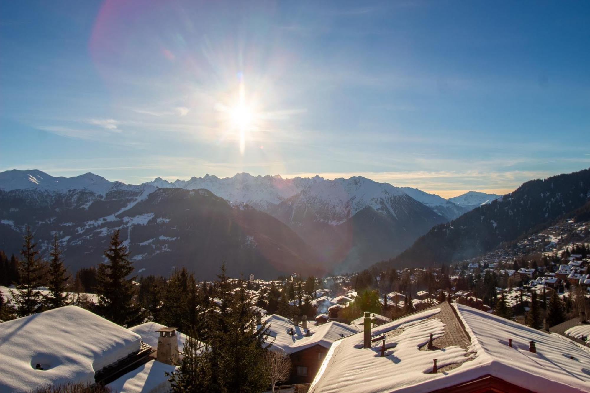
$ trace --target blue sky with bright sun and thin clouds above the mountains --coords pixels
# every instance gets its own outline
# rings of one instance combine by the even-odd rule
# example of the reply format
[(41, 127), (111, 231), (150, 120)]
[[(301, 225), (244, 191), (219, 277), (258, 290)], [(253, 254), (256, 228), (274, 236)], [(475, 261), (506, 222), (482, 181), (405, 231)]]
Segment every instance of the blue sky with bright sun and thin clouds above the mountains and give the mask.
[(507, 192), (590, 167), (589, 43), (582, 1), (4, 1), (0, 171)]

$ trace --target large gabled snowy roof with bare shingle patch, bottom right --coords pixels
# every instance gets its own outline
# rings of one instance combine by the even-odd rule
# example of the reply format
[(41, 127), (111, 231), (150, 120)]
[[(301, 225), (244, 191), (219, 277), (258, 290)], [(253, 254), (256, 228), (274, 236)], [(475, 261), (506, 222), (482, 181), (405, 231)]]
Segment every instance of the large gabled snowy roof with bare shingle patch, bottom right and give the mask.
[[(449, 315), (453, 317), (448, 319)], [(455, 343), (454, 336), (461, 331), (467, 334), (467, 345)], [(310, 392), (425, 392), (486, 375), (536, 392), (590, 389), (586, 349), (562, 336), (461, 304), (443, 302), (372, 330), (373, 336), (383, 333), (387, 349), (383, 357), (379, 356), (382, 341), (363, 349), (362, 333), (336, 340)], [(441, 346), (443, 350), (419, 350), (428, 343), (429, 333), (434, 334), (435, 347), (439, 338), (449, 344)], [(508, 339), (513, 340), (512, 347)], [(536, 353), (529, 352), (531, 340)], [(439, 368), (449, 368), (432, 374), (432, 359), (438, 359)]]

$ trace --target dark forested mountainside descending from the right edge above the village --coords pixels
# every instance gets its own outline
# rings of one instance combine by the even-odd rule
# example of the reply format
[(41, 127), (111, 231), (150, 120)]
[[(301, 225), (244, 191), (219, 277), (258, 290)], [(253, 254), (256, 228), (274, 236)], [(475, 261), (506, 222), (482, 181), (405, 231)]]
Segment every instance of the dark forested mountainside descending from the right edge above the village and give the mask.
[[(467, 205), (486, 198), (477, 194), (462, 197), (457, 198)], [(582, 215), (589, 201), (590, 169), (528, 181), (510, 194), (433, 227), (412, 247), (377, 267), (428, 266), (477, 257), (545, 228), (557, 218)]]

